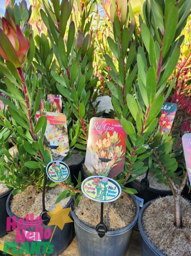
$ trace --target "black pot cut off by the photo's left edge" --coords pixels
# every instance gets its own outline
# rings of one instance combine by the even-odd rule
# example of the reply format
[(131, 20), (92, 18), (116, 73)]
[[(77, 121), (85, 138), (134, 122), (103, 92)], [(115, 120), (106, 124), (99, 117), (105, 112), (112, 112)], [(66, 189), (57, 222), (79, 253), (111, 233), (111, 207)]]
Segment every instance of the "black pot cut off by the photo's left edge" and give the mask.
[(0, 195), (0, 237), (6, 235), (6, 218), (9, 216), (6, 211), (6, 200), (11, 189)]

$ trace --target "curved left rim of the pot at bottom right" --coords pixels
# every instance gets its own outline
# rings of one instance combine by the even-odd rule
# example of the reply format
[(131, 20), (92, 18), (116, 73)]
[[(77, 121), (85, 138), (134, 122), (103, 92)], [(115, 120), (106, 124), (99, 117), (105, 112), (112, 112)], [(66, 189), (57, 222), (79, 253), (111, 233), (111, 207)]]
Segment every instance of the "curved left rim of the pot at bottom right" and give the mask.
[(153, 252), (155, 252), (155, 254), (156, 254), (157, 256), (164, 256), (164, 254), (161, 253), (161, 252), (150, 242), (150, 240), (148, 239), (147, 235), (145, 234), (145, 231), (143, 230), (143, 226), (142, 226), (142, 215), (143, 215), (144, 211), (146, 210), (146, 208), (147, 208), (152, 202), (154, 202), (155, 200), (157, 200), (157, 198), (148, 201), (148, 202), (145, 203), (145, 205), (143, 205), (143, 207), (141, 208), (140, 213), (139, 213), (139, 217), (138, 217), (138, 226), (139, 226), (139, 231), (140, 231), (140, 233), (141, 233), (142, 239), (145, 241), (145, 243), (148, 245), (148, 247), (149, 247)]

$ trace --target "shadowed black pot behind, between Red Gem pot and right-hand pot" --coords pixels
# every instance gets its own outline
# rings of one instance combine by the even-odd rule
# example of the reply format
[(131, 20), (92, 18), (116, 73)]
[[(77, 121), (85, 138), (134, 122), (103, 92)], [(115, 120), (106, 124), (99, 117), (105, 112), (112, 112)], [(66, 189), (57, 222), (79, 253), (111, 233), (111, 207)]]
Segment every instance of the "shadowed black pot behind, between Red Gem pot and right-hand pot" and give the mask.
[(160, 189), (146, 187), (145, 185), (142, 185), (137, 180), (133, 180), (127, 183), (126, 186), (136, 189), (138, 193), (135, 195), (142, 198), (144, 200), (144, 203), (152, 199), (155, 199), (157, 197), (165, 197), (165, 196), (172, 195), (171, 190), (160, 190)]

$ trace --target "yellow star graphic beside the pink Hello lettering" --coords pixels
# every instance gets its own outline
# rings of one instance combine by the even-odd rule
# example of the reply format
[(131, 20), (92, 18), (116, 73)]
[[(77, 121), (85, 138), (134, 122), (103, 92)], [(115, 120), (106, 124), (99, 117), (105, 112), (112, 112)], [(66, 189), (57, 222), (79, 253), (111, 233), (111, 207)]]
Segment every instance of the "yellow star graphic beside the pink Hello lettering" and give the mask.
[(59, 203), (57, 203), (54, 211), (47, 212), (50, 216), (50, 222), (48, 223), (48, 226), (56, 225), (61, 230), (63, 230), (65, 223), (73, 222), (72, 219), (68, 216), (70, 209), (71, 207), (63, 209)]

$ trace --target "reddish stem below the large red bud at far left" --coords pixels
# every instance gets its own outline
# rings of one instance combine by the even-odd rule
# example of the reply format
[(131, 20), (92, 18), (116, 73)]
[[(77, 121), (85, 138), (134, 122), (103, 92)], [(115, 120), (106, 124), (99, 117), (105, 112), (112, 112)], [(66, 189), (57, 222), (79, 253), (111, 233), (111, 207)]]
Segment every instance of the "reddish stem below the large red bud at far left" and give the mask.
[[(28, 120), (29, 120), (29, 123), (30, 123), (32, 138), (33, 138), (34, 141), (37, 141), (36, 137), (35, 137), (35, 134), (34, 134), (33, 125), (32, 125), (31, 110), (30, 110), (29, 99), (28, 99), (28, 94), (27, 94), (27, 87), (26, 87), (26, 84), (25, 84), (24, 76), (23, 76), (23, 71), (22, 71), (21, 68), (17, 68), (17, 70), (18, 70), (19, 76), (21, 77), (21, 81), (22, 81), (22, 85), (23, 85), (23, 91), (25, 93), (25, 101), (26, 101), (26, 105), (27, 105)], [(39, 153), (39, 156), (40, 156), (41, 160), (44, 162), (44, 158), (43, 158), (43, 155), (41, 154), (40, 150), (37, 151), (37, 152)]]

